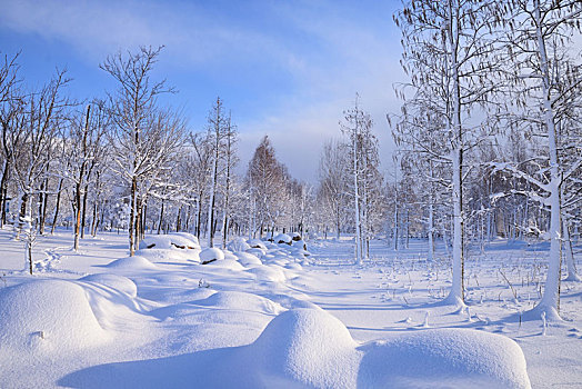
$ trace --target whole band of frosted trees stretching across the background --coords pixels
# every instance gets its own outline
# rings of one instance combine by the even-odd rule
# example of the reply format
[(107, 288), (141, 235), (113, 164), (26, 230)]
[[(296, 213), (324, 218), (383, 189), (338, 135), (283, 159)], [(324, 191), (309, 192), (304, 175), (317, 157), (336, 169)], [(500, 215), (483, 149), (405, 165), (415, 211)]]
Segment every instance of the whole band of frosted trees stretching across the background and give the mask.
[(392, 167), (383, 171), (357, 96), (322, 146), (314, 184), (291, 177), (267, 136), (237, 173), (239, 133), (224, 101), (213, 101), (200, 131), (160, 102), (175, 92), (151, 78), (161, 48), (108, 57), (100, 67), (117, 89), (82, 103), (67, 97), (64, 71), (27, 90), (18, 56), (4, 56), (0, 223), (26, 242), (31, 271), (36, 236), (58, 226), (71, 227), (74, 249), (86, 233), (127, 231), (131, 255), (144, 233), (169, 231), (209, 246), (230, 235), (350, 233), (357, 263), (374, 238), (394, 250), (427, 239), (428, 260), (442, 241), (453, 270), (446, 302), (456, 305), (470, 250), (496, 237), (546, 239), (535, 313), (556, 316), (562, 258), (579, 280), (581, 16), (574, 0), (404, 1), (394, 22), (409, 81), (397, 88), (401, 112), (387, 117)]

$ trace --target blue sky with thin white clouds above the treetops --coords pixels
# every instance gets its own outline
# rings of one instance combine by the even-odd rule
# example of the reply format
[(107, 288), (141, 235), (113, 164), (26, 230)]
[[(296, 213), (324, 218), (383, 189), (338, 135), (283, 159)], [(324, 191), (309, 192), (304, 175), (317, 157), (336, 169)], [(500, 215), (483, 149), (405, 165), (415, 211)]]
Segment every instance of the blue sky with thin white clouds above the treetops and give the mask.
[[(189, 127), (202, 130), (220, 96), (240, 131), (241, 166), (269, 134), (293, 177), (315, 181), (322, 143), (340, 137), (342, 111), (358, 91), (372, 113), (389, 160), (387, 112), (399, 109), (393, 83), (399, 1), (8, 1), (0, 13), (0, 51), (19, 50), (21, 74), (41, 84), (56, 68), (73, 79), (79, 99), (114, 88), (99, 63), (140, 44), (165, 49), (153, 76)], [(242, 169), (241, 169), (242, 170)]]

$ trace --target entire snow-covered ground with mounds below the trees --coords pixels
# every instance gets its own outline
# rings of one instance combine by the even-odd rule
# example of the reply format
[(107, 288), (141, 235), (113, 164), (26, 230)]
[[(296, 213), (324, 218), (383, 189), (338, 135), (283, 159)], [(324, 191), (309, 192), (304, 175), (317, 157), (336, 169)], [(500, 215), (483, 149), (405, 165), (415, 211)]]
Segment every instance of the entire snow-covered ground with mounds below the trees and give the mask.
[(471, 251), (459, 311), (439, 305), (450, 266), (442, 247), (428, 263), (423, 241), (374, 241), (355, 267), (349, 240), (217, 253), (152, 236), (128, 258), (126, 235), (76, 253), (61, 231), (39, 237), (31, 277), (11, 237), (0, 230), (2, 388), (582, 387), (582, 283), (562, 283), (564, 321), (522, 316), (543, 243)]

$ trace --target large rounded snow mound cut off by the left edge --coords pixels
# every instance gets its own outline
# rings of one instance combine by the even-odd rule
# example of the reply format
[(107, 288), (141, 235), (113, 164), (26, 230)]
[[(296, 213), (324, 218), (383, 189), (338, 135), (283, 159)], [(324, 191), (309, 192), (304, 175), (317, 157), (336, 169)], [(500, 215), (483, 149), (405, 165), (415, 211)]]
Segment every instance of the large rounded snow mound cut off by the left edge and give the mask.
[(63, 280), (34, 280), (0, 289), (0, 349), (80, 350), (107, 339), (86, 291)]

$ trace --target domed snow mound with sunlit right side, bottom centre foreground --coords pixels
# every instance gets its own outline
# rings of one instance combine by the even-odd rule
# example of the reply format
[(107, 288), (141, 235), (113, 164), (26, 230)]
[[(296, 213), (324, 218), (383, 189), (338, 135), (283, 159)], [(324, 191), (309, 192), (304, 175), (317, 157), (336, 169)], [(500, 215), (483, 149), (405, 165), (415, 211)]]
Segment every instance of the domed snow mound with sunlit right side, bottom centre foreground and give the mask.
[(275, 317), (245, 350), (264, 388), (350, 388), (360, 353), (345, 326), (318, 309), (297, 309)]

